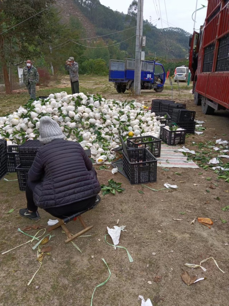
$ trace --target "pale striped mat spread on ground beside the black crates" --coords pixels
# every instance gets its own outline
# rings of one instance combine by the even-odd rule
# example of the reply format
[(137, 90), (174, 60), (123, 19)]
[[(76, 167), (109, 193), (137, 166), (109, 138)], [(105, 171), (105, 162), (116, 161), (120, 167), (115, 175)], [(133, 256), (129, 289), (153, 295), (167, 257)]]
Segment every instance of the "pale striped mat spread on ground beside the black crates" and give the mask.
[(181, 149), (179, 146), (162, 144), (161, 156), (157, 158), (157, 166), (163, 168), (199, 168), (192, 160), (187, 161), (187, 157), (182, 152), (174, 152), (179, 149)]

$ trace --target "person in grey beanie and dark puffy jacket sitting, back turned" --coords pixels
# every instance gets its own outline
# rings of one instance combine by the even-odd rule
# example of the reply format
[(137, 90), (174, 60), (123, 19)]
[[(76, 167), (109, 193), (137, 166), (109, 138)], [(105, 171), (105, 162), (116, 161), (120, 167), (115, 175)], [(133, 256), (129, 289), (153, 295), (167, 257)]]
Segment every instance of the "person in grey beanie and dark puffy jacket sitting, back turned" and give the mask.
[(60, 126), (49, 116), (40, 119), (37, 151), (28, 172), (27, 208), (22, 217), (38, 221), (38, 207), (61, 218), (86, 210), (100, 200), (96, 171), (84, 149), (77, 142), (64, 140)]

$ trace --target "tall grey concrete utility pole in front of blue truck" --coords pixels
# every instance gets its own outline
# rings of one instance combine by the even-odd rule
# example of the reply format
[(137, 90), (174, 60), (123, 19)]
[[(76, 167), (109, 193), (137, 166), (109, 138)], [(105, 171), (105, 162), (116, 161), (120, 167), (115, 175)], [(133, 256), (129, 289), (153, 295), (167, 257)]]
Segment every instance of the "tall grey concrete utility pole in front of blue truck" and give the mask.
[(134, 69), (134, 93), (139, 96), (141, 91), (141, 51), (142, 51), (142, 28), (143, 28), (143, 2), (138, 0), (135, 69)]

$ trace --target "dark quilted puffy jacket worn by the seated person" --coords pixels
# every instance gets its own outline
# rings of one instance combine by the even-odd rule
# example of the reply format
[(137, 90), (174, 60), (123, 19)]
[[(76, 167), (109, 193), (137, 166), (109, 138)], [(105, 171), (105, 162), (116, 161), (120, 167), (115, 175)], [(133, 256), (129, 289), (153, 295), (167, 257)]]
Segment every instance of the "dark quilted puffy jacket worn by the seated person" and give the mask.
[(40, 147), (28, 173), (38, 207), (64, 206), (96, 196), (101, 188), (92, 162), (80, 144), (54, 139)]

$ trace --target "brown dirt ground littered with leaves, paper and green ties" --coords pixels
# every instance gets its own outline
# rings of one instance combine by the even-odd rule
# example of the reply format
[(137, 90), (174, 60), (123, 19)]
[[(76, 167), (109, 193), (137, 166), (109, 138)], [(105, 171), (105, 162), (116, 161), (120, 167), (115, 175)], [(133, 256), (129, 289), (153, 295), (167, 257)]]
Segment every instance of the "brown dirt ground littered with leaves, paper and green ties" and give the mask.
[[(174, 92), (173, 99), (186, 103), (187, 109), (196, 110), (196, 119), (206, 122), (203, 125), (206, 131), (204, 136), (187, 137), (185, 146), (197, 150), (197, 147), (190, 146), (192, 142), (205, 143), (219, 138), (228, 140), (229, 113), (220, 111), (213, 116), (203, 115), (201, 107), (194, 105), (189, 90), (182, 90), (180, 95), (178, 91)], [(171, 98), (171, 92), (166, 89), (161, 94), (143, 92), (138, 100), (150, 105), (152, 99), (162, 94), (165, 99)], [(114, 91), (107, 91), (104, 96), (116, 100), (132, 99), (128, 93), (119, 95)], [(0, 255), (0, 305), (89, 306), (94, 288), (109, 275), (101, 260), (104, 258), (111, 270), (111, 278), (96, 289), (93, 306), (138, 306), (138, 295), (150, 298), (154, 306), (228, 306), (229, 212), (220, 209), (228, 205), (228, 183), (217, 180), (217, 174), (211, 170), (168, 168), (169, 171), (164, 171), (158, 167), (157, 182), (147, 186), (160, 189), (168, 182), (179, 188), (154, 192), (142, 185), (130, 185), (119, 173), (113, 175), (98, 170), (98, 166), (96, 168), (101, 184), (113, 178), (122, 182), (125, 191), (115, 196), (101, 196), (96, 209), (84, 214), (85, 222), (94, 227), (87, 233), (91, 237), (75, 240), (82, 253), (71, 243), (64, 243), (66, 236), (60, 228), (54, 230), (52, 233), (55, 236), (46, 244), (52, 247), (51, 255), (44, 257), (40, 270), (29, 286), (28, 281), (39, 267), (37, 252), (32, 250), (35, 243)], [(176, 171), (182, 176), (174, 174)], [(198, 174), (200, 172), (203, 174)], [(211, 181), (207, 181), (206, 177), (211, 177)], [(6, 178), (16, 179), (16, 174), (8, 174)], [(218, 187), (209, 189), (211, 183), (217, 183)], [(18, 182), (2, 179), (0, 188), (2, 253), (28, 241), (30, 238), (17, 229), (23, 230), (34, 223), (18, 215), (18, 210), (26, 205), (25, 193), (19, 191)], [(206, 192), (206, 189), (210, 192)], [(144, 194), (138, 190), (144, 191)], [(220, 200), (216, 200), (216, 197), (220, 197)], [(8, 214), (11, 208), (14, 211)], [(48, 228), (47, 221), (52, 216), (42, 210), (39, 213), (41, 219), (35, 224)], [(211, 229), (197, 220), (191, 224), (197, 217), (211, 218), (214, 222)], [(228, 223), (223, 224), (220, 218)], [(115, 226), (118, 219), (119, 226), (126, 226), (119, 245), (127, 248), (133, 257), (132, 263), (129, 263), (124, 249), (115, 250), (104, 241), (107, 226)], [(68, 226), (73, 234), (82, 229), (78, 220), (70, 222)], [(34, 235), (36, 232), (30, 230), (27, 233)], [(110, 237), (107, 240), (112, 243)], [(225, 274), (212, 259), (202, 264), (206, 272), (201, 268), (184, 266), (185, 263), (199, 264), (211, 256)], [(180, 276), (183, 271), (206, 279), (187, 286)], [(157, 299), (158, 295), (162, 300)]]

